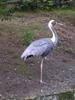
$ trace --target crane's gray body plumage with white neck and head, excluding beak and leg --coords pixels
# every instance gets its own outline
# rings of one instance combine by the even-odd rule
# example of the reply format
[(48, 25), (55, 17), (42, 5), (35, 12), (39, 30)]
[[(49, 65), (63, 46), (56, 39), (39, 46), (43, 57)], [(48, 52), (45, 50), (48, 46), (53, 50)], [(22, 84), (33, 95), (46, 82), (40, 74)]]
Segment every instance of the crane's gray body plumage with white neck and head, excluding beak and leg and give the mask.
[(26, 60), (27, 58), (32, 57), (32, 56), (45, 57), (52, 51), (52, 49), (56, 46), (57, 41), (58, 41), (58, 37), (57, 37), (56, 31), (53, 28), (53, 24), (54, 25), (56, 24), (56, 22), (54, 20), (51, 20), (48, 23), (48, 26), (49, 26), (50, 30), (52, 32), (53, 31), (55, 32), (53, 34), (53, 37), (52, 38), (42, 38), (42, 39), (33, 41), (25, 49), (25, 51), (21, 55), (21, 58)]

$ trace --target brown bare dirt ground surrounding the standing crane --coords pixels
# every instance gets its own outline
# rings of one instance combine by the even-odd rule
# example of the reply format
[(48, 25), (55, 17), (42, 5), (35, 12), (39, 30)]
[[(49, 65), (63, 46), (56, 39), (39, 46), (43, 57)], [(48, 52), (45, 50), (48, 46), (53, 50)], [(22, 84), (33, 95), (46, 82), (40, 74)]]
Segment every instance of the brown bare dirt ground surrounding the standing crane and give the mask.
[[(32, 28), (34, 40), (51, 36), (47, 27), (49, 20), (63, 23), (56, 27), (58, 47), (44, 61), (43, 80), (40, 84), (41, 58), (24, 62), (20, 55), (23, 32)], [(58, 16), (54, 13), (14, 14), (11, 20), (0, 20), (0, 100), (23, 100), (28, 96), (52, 94), (75, 89), (75, 17)]]

